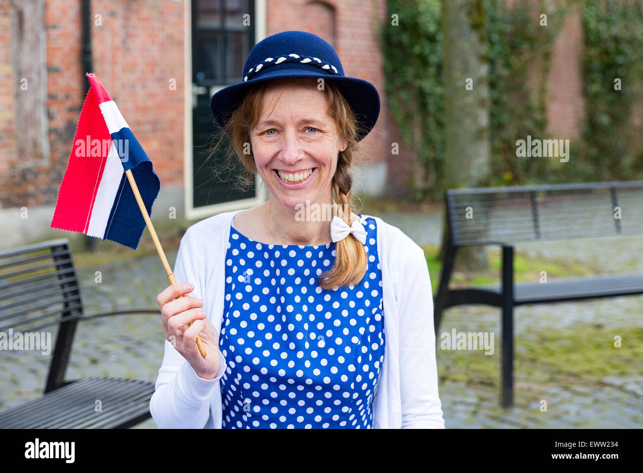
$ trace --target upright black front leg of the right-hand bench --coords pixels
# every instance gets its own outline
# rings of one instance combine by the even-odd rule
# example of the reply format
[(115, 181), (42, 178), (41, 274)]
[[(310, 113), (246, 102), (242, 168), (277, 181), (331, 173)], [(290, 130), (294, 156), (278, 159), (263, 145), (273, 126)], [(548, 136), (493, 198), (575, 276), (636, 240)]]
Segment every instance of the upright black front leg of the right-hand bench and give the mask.
[(502, 407), (514, 403), (514, 248), (502, 246)]

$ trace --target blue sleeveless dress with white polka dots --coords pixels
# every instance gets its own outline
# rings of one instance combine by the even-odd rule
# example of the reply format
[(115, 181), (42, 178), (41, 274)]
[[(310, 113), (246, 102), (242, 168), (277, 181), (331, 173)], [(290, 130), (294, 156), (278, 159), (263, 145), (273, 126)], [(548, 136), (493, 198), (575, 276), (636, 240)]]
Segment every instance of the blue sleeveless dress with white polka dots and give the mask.
[(230, 228), (219, 349), (223, 429), (370, 429), (384, 360), (374, 219), (357, 286), (323, 290), (335, 243), (266, 245)]

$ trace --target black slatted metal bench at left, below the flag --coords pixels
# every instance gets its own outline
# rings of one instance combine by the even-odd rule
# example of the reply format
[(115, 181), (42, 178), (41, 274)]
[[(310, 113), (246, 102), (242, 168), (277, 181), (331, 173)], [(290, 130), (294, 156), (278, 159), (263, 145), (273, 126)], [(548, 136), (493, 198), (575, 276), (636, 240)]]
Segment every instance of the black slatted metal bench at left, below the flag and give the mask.
[[(58, 328), (44, 395), (1, 412), (0, 428), (124, 429), (150, 418), (154, 383), (119, 378), (65, 380), (64, 376), (80, 320), (158, 314), (158, 310), (84, 316), (66, 238), (0, 252), (0, 295), (0, 332), (35, 336), (42, 329)], [(101, 402), (98, 412), (96, 400)]]

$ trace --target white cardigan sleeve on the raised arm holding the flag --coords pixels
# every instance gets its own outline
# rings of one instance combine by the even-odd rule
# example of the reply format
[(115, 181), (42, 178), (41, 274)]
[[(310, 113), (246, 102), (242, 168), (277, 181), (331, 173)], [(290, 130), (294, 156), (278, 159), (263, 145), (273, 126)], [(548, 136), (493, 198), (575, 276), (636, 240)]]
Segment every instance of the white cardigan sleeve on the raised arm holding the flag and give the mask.
[[(193, 283), (190, 293), (204, 301), (203, 272), (195, 268), (201, 259), (192, 245), (188, 232), (181, 239), (174, 264), (177, 283)], [(209, 316), (210, 314), (208, 314)], [(203, 429), (210, 418), (210, 401), (219, 395), (219, 379), (226, 369), (226, 360), (219, 352), (219, 372), (212, 380), (201, 378), (174, 346), (165, 340), (163, 362), (150, 400), (150, 414), (159, 429)]]

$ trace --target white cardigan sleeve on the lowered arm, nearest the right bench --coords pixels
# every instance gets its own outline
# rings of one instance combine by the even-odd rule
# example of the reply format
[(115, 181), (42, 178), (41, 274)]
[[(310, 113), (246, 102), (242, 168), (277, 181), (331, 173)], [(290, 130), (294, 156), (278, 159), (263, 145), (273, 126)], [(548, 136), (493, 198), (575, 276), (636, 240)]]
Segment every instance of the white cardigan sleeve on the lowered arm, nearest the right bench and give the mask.
[(399, 301), (399, 366), (402, 428), (444, 429), (438, 393), (433, 328), (433, 293), (424, 251), (412, 241), (404, 245), (408, 255)]

